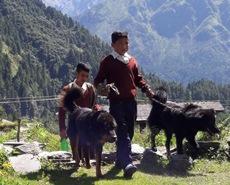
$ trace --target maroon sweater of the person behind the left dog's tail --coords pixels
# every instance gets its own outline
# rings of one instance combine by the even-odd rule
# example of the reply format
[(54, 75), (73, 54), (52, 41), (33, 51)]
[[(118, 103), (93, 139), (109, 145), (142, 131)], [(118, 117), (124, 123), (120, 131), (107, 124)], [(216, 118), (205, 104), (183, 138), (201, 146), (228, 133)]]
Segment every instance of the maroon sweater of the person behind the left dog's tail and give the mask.
[[(92, 86), (93, 87), (93, 86)], [(69, 85), (65, 86), (63, 88), (63, 91), (67, 91), (69, 89)], [(95, 89), (93, 87), (93, 101), (95, 99)], [(87, 108), (91, 108), (90, 105), (90, 92), (89, 92), (89, 88), (87, 87), (85, 93), (83, 96), (79, 97), (78, 99), (74, 100), (74, 102), (76, 103), (76, 105), (80, 106), (80, 107), (87, 107)], [(95, 110), (100, 110), (100, 106), (98, 105), (98, 103), (95, 103), (94, 106)], [(62, 129), (66, 129), (65, 128), (65, 115), (66, 115), (66, 111), (63, 107), (59, 107), (59, 111), (58, 111), (58, 121), (59, 121), (59, 129), (60, 131)]]

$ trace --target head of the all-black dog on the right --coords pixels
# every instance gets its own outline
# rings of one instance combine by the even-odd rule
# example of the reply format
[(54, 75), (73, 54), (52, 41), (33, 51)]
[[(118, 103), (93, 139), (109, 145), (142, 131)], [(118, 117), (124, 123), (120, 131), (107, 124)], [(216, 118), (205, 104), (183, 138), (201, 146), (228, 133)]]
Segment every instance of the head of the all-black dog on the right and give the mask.
[(220, 133), (216, 125), (216, 111), (214, 109), (199, 110), (195, 117), (200, 119), (201, 131), (207, 131), (211, 136)]

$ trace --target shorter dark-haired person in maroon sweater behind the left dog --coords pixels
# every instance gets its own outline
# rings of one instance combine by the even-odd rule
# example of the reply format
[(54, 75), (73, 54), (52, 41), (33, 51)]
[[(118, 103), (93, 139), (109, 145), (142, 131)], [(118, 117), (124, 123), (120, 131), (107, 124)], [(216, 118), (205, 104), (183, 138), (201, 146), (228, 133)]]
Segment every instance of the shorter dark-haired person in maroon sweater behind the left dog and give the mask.
[[(76, 75), (76, 79), (71, 82), (70, 84), (66, 85), (63, 88), (63, 91), (68, 91), (71, 88), (75, 88), (75, 87), (80, 87), (82, 92), (83, 92), (83, 96), (76, 99), (74, 102), (76, 105), (80, 106), (80, 107), (87, 107), (87, 108), (92, 108), (94, 110), (100, 110), (100, 106), (95, 103), (94, 101), (96, 101), (96, 97), (95, 97), (95, 89), (94, 86), (90, 83), (87, 83), (87, 79), (89, 77), (90, 74), (90, 65), (80, 62), (77, 65), (77, 69), (75, 72)], [(94, 107), (92, 107), (94, 106)], [(73, 159), (74, 159), (74, 146), (76, 143), (76, 138), (74, 137), (73, 134), (70, 134), (71, 131), (67, 129), (66, 132), (66, 126), (65, 126), (65, 115), (66, 115), (66, 111), (62, 108), (59, 107), (59, 114), (58, 114), (58, 120), (59, 120), (59, 129), (60, 129), (60, 137), (61, 137), (61, 141), (67, 137), (69, 137), (70, 139), (70, 145), (71, 145), (71, 149), (72, 149), (72, 153), (73, 153)], [(70, 116), (70, 115), (69, 115)]]

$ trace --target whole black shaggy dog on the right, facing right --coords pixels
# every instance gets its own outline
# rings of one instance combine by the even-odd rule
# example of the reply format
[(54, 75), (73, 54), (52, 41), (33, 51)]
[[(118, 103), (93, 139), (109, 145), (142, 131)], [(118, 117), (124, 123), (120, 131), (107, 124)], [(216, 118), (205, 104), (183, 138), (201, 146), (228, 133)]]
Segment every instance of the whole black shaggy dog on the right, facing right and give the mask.
[[(157, 100), (157, 101), (154, 101)], [(160, 102), (160, 103), (159, 103)], [(195, 140), (198, 131), (207, 131), (210, 135), (219, 133), (215, 123), (215, 111), (213, 109), (201, 109), (194, 104), (186, 104), (180, 107), (167, 102), (167, 91), (160, 87), (155, 90), (152, 98), (152, 110), (148, 117), (148, 125), (151, 130), (152, 150), (156, 151), (155, 137), (161, 129), (166, 134), (166, 151), (170, 157), (170, 142), (172, 135), (175, 134), (177, 153), (183, 153), (183, 139), (194, 148), (192, 157), (196, 158), (199, 152), (199, 145)]]

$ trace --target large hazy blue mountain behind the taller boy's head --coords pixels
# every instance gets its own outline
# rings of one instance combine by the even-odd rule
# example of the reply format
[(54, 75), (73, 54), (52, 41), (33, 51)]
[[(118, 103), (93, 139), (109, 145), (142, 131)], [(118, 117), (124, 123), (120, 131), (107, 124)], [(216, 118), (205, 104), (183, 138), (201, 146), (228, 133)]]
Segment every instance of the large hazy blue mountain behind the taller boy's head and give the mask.
[(130, 35), (130, 54), (158, 77), (187, 85), (201, 78), (230, 81), (229, 0), (106, 0), (76, 17), (110, 43)]

